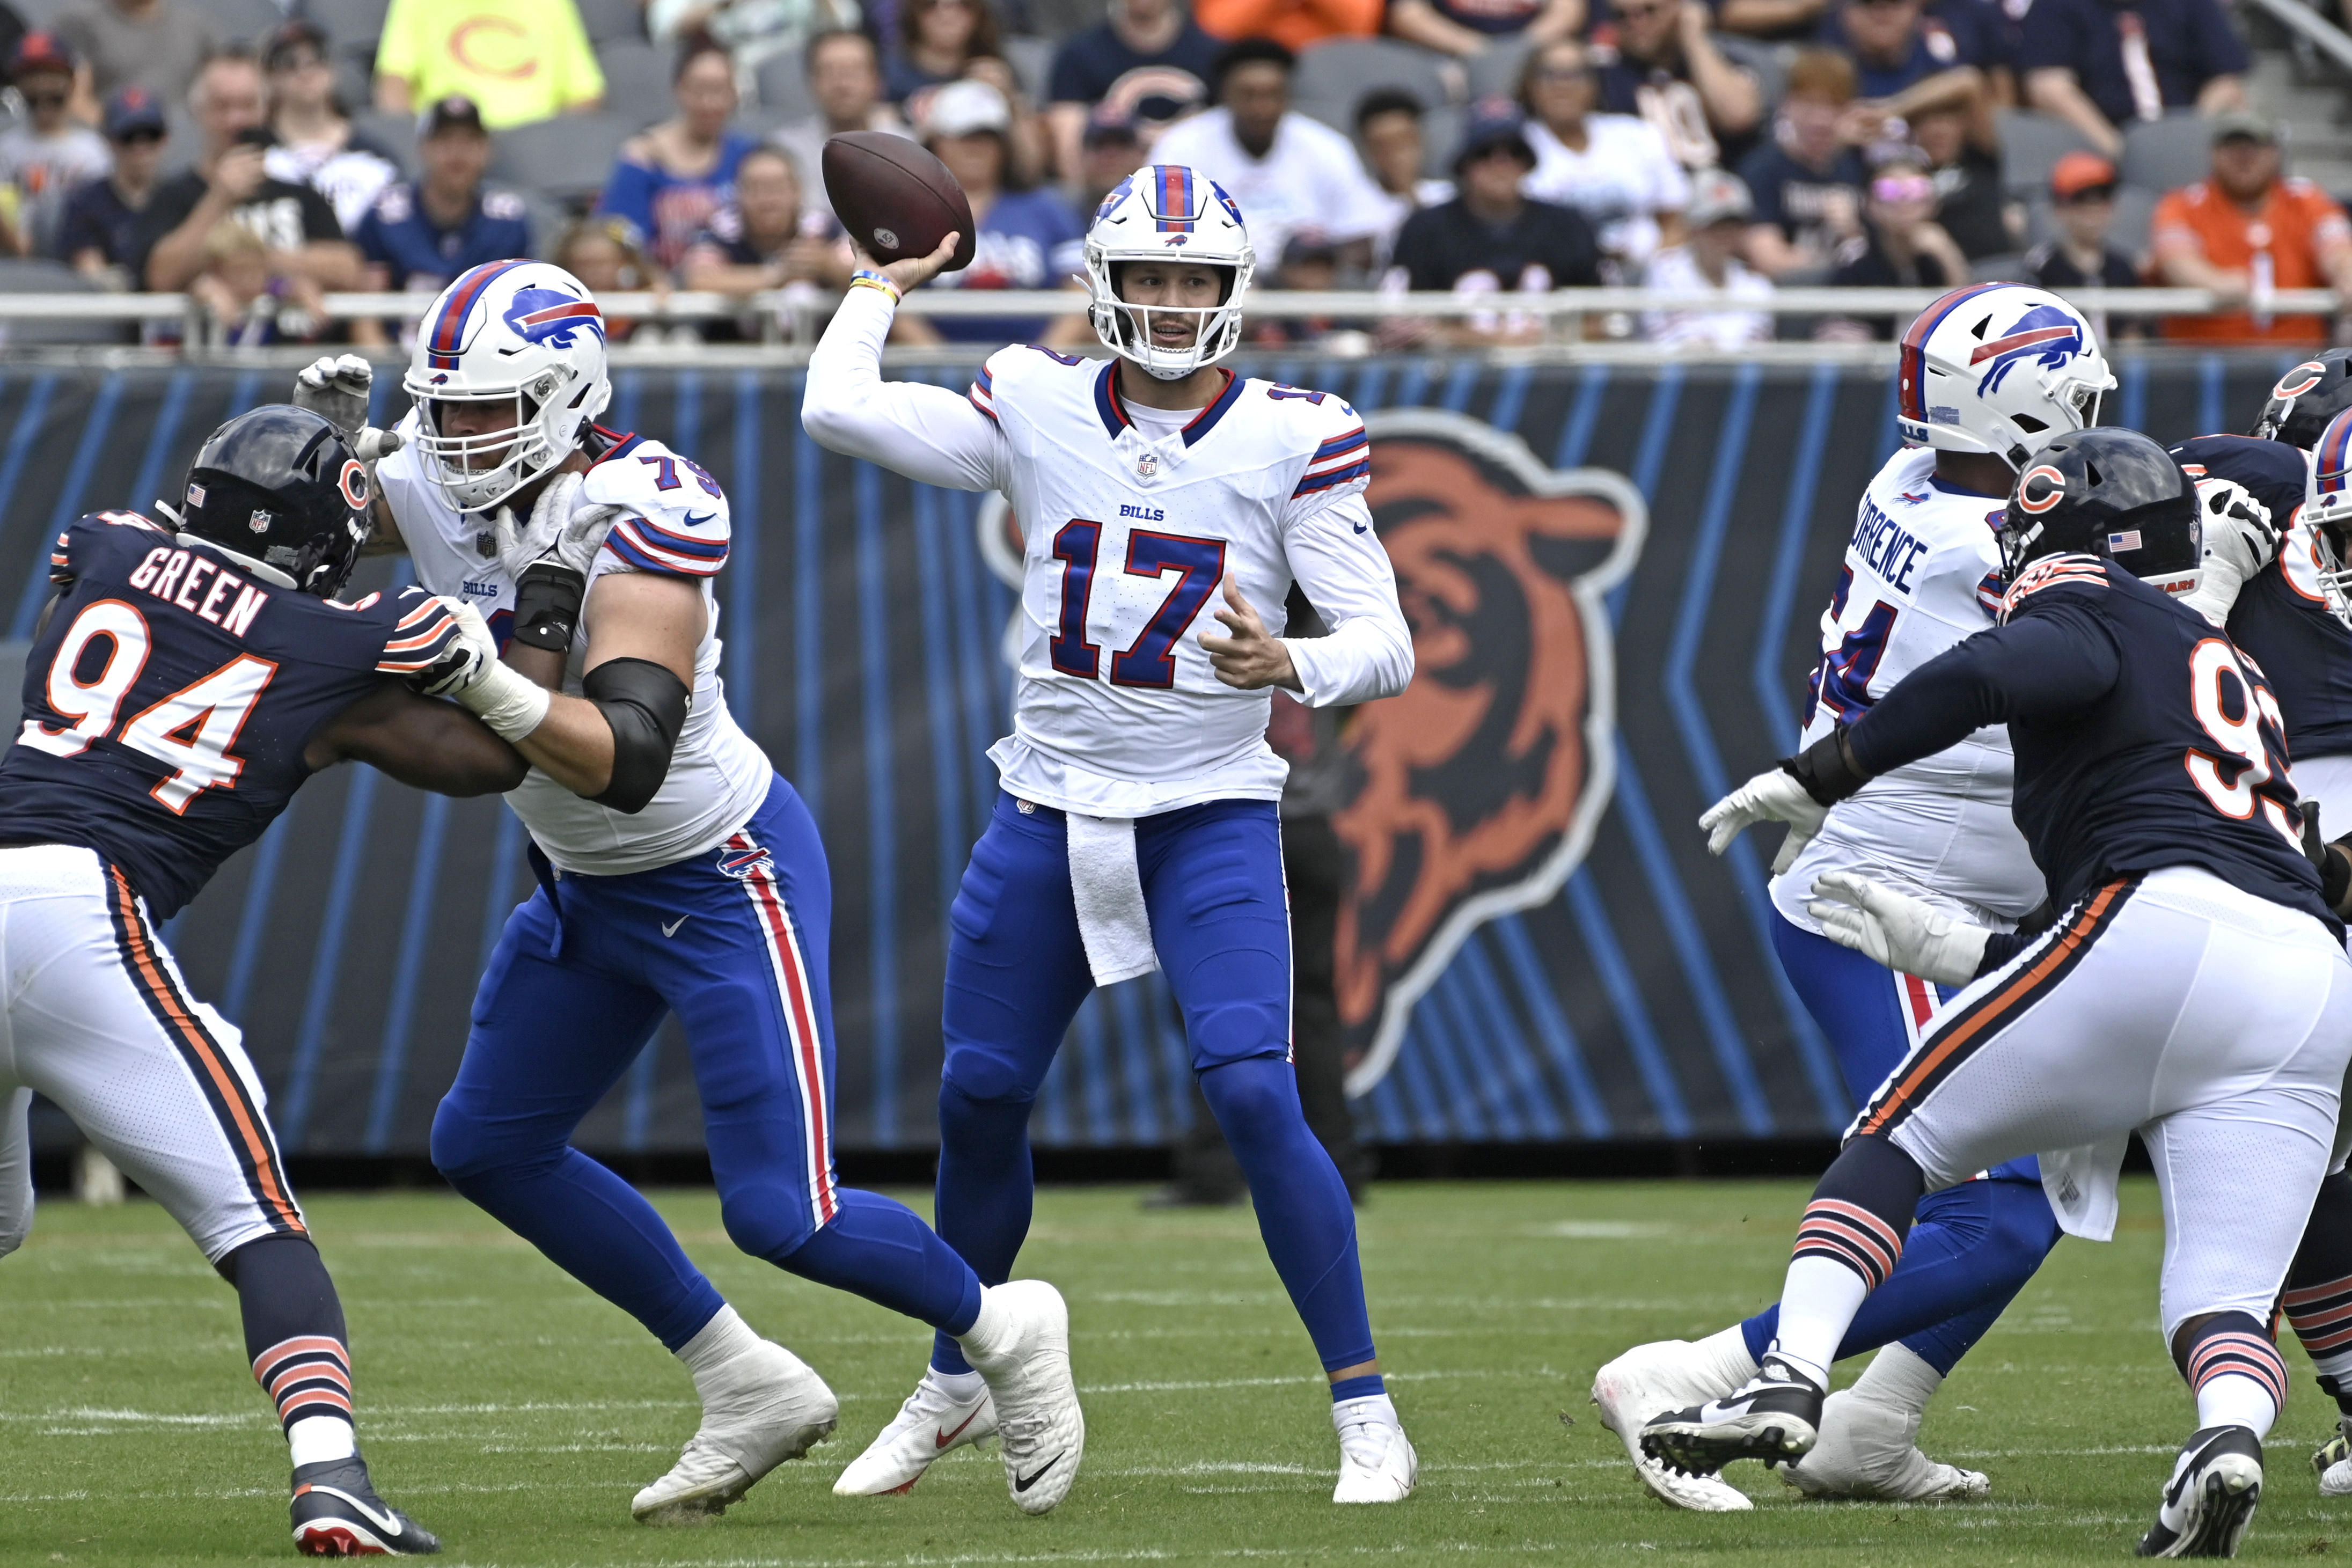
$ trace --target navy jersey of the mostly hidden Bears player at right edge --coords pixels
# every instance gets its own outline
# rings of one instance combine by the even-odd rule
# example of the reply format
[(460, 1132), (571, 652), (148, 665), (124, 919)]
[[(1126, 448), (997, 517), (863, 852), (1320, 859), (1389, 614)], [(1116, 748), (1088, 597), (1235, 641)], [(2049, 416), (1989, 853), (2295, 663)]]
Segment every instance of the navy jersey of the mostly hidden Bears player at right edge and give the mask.
[(2288, 757), (2352, 752), (2352, 628), (2319, 585), (2317, 538), (2298, 522), (2307, 456), (2251, 435), (2199, 435), (2173, 447), (2197, 477), (2234, 480), (2279, 524), (2279, 559), (2253, 576), (2230, 611), (2230, 642), (2253, 654), (2286, 715)]

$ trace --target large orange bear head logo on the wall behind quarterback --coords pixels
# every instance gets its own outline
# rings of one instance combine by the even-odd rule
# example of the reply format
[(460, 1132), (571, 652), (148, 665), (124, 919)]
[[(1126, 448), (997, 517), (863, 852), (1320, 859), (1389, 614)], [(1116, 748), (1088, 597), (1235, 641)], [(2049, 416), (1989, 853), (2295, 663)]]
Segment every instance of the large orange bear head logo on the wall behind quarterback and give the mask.
[(1371, 515), (1414, 630), (1414, 684), (1367, 703), (1334, 813), (1348, 853), (1338, 1009), (1348, 1093), (1479, 924), (1543, 903), (1616, 783), (1616, 656), (1602, 595), (1642, 552), (1623, 475), (1552, 470), (1461, 414), (1371, 414)]

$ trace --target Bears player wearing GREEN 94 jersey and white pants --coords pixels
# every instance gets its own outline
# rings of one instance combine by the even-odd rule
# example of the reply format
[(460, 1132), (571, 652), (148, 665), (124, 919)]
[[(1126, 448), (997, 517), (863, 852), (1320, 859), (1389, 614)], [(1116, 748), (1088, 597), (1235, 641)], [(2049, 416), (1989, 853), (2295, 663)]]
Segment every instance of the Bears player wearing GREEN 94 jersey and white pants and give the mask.
[(238, 1291), (245, 1354), (294, 1458), (294, 1544), (428, 1554), (383, 1505), (353, 1425), (343, 1305), (303, 1227), (238, 1030), (155, 933), (313, 771), (369, 762), (489, 795), (522, 759), (414, 696), (477, 658), (456, 607), (409, 588), (341, 604), (367, 470), (325, 418), (263, 407), (195, 454), (181, 505), (56, 538), (0, 762), (0, 1251), (33, 1225), (35, 1091), (158, 1199)]

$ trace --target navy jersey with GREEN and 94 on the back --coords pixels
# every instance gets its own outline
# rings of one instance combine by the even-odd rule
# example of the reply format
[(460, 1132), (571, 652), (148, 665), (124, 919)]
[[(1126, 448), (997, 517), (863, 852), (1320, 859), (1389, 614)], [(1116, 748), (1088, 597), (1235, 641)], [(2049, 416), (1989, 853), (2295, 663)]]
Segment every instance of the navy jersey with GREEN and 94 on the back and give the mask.
[(59, 534), (49, 578), (64, 599), (26, 658), (0, 839), (94, 849), (158, 917), (287, 809), (327, 719), (456, 637), (421, 588), (336, 604), (136, 512)]

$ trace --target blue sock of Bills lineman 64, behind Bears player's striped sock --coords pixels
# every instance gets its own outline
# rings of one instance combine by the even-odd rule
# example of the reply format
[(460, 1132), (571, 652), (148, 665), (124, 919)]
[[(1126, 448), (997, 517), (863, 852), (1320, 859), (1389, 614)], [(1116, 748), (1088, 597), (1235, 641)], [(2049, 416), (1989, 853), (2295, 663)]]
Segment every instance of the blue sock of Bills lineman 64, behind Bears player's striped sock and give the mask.
[[(1903, 1340), (1950, 1375), (2058, 1246), (2058, 1215), (2039, 1185), (2009, 1178), (1931, 1192), (1917, 1215), (1903, 1260), (1853, 1314), (1837, 1356)], [(1740, 1324), (1748, 1354), (1762, 1361), (1778, 1331), (1773, 1302)]]

